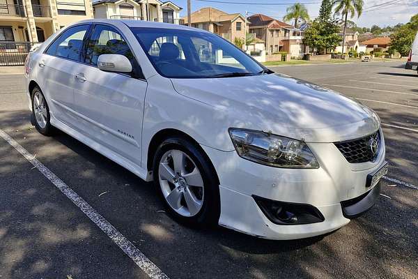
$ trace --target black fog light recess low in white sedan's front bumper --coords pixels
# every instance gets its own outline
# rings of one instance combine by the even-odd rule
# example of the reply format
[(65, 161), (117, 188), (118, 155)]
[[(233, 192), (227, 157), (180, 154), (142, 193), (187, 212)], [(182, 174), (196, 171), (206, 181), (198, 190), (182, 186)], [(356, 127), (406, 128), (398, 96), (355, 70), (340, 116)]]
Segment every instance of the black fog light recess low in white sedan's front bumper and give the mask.
[(325, 220), (322, 213), (311, 204), (279, 202), (256, 195), (252, 197), (264, 215), (277, 225), (303, 225)]

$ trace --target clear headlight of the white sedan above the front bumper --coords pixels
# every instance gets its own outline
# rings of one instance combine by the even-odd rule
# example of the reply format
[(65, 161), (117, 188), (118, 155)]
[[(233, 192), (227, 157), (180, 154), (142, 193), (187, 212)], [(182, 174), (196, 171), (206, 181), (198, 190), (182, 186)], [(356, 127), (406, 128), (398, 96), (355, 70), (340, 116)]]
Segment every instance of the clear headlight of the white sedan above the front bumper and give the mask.
[(238, 155), (247, 160), (272, 167), (319, 167), (311, 149), (303, 141), (238, 128), (230, 128), (229, 135)]

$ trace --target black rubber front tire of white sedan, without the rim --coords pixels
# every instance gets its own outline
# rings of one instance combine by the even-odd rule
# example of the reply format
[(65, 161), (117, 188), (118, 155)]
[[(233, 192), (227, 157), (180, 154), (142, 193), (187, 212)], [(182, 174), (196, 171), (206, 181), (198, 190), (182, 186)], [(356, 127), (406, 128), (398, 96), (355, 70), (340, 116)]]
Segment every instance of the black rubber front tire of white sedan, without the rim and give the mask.
[[(174, 211), (171, 206), (169, 206), (162, 193), (158, 168), (162, 156), (170, 150), (180, 150), (186, 153), (187, 156), (194, 161), (201, 173), (204, 185), (204, 199), (203, 206), (195, 216), (185, 217)], [(160, 195), (160, 198), (167, 209), (167, 213), (169, 213), (173, 219), (177, 220), (179, 223), (192, 227), (215, 227), (217, 225), (220, 215), (219, 181), (215, 169), (212, 167), (206, 154), (204, 154), (195, 144), (192, 144), (189, 140), (180, 136), (170, 137), (167, 140), (164, 140), (164, 142), (158, 146), (157, 152), (155, 153), (153, 161), (153, 180), (157, 193)]]

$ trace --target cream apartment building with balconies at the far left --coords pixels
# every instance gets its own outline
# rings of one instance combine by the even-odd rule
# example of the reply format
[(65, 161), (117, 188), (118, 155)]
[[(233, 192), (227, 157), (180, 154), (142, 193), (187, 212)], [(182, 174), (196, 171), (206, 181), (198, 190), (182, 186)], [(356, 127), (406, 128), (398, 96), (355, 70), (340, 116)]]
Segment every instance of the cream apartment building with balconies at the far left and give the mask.
[(91, 0), (0, 0), (0, 44), (40, 43), (88, 18), (93, 18)]

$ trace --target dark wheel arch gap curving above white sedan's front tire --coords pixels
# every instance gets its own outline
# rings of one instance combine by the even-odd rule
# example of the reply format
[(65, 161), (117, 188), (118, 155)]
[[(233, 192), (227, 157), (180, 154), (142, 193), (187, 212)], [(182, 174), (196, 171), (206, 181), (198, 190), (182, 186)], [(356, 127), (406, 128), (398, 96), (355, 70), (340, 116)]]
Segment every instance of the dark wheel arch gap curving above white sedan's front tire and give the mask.
[(185, 138), (185, 140), (188, 140), (189, 142), (194, 144), (194, 146), (196, 146), (196, 148), (199, 149), (199, 151), (201, 151), (201, 153), (205, 157), (205, 160), (207, 160), (207, 162), (209, 163), (210, 168), (212, 169), (212, 172), (215, 174), (215, 179), (217, 180), (217, 183), (219, 183), (219, 176), (216, 172), (215, 166), (213, 165), (212, 160), (210, 160), (208, 154), (201, 148), (199, 142), (196, 142), (196, 140), (194, 140), (193, 137), (187, 135), (187, 133), (184, 133), (181, 130), (177, 130), (173, 128), (165, 128), (163, 130), (159, 130), (151, 138), (148, 144), (148, 153), (147, 153), (147, 162), (146, 162), (146, 167), (148, 171), (153, 170), (154, 156), (155, 156), (155, 153), (157, 152), (158, 146), (160, 146), (160, 144), (164, 142), (164, 140), (167, 140), (169, 137), (175, 137), (175, 136)]

